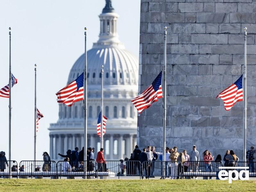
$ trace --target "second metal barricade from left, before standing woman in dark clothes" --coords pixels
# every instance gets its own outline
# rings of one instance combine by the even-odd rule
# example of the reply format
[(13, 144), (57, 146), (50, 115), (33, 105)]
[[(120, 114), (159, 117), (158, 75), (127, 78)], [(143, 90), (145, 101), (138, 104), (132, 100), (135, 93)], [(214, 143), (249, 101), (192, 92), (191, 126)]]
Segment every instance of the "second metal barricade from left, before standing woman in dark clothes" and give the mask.
[(21, 177), (57, 177), (55, 161), (21, 161), (19, 176)]

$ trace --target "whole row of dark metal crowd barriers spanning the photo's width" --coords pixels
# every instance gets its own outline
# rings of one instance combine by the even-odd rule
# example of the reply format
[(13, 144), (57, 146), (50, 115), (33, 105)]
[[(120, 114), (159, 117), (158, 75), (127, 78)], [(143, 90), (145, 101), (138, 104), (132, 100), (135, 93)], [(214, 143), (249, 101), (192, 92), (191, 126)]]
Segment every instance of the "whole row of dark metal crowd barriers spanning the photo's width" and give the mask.
[[(165, 177), (165, 178), (191, 178), (191, 177), (217, 177), (220, 172), (219, 167), (234, 167), (240, 172), (238, 167), (249, 167), (249, 177), (256, 177), (256, 162), (236, 162), (222, 164), (221, 162), (204, 161), (105, 161), (96, 163), (95, 160), (84, 162), (65, 162), (65, 161), (21, 161), (18, 167), (16, 161), (0, 161), (0, 177), (8, 178), (75, 178), (84, 177), (84, 164), (87, 164), (87, 178), (105, 179), (108, 176), (127, 177)], [(237, 168), (236, 168), (237, 167)]]

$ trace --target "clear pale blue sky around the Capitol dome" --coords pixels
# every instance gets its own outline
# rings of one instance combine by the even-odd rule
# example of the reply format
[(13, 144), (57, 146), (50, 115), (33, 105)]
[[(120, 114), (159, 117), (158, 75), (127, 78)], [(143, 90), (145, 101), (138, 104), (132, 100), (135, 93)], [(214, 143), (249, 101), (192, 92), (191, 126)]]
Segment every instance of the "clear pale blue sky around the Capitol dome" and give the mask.
[[(140, 1), (112, 0), (119, 14), (117, 30), (127, 50), (139, 57)], [(12, 0), (0, 2), (0, 87), (9, 80), (9, 27), (12, 27), (12, 73), (18, 84), (12, 89), (12, 160), (33, 160), (34, 64), (37, 64), (39, 122), (37, 159), (49, 152), (50, 123), (58, 120), (55, 93), (68, 80), (69, 70), (87, 47), (98, 40), (98, 15), (105, 0)], [(1, 89), (0, 88), (0, 89)], [(8, 104), (0, 98), (0, 151), (8, 159)]]

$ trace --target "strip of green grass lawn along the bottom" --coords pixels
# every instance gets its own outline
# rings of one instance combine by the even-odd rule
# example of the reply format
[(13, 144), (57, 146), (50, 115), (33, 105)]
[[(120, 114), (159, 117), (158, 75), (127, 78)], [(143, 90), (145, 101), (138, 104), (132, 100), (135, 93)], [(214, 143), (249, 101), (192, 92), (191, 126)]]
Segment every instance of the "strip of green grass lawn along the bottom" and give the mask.
[(0, 191), (256, 191), (256, 180), (50, 180), (1, 179)]

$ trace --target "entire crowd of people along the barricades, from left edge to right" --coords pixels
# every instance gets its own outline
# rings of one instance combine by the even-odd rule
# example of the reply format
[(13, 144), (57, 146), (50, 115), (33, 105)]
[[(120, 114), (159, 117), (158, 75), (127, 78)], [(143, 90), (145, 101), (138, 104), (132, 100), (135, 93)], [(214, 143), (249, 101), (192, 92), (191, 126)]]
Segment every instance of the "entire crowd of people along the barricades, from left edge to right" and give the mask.
[[(62, 164), (62, 171), (63, 172), (79, 172), (84, 171), (84, 147), (81, 151), (79, 148), (76, 147), (75, 150), (71, 151), (68, 149), (66, 155), (58, 154), (59, 156), (64, 158), (64, 163)], [(246, 152), (246, 160), (249, 164), (249, 172), (254, 172), (254, 147), (252, 146), (250, 150)], [(93, 171), (95, 165), (93, 163), (94, 159), (94, 148), (87, 148), (87, 171)], [(104, 159), (104, 148), (100, 148), (100, 151), (97, 153), (96, 163), (98, 166), (98, 172), (107, 172), (107, 162)], [(196, 150), (196, 145), (193, 145), (192, 150), (188, 153), (186, 149), (182, 152), (178, 152), (178, 148), (175, 146), (173, 148), (166, 147), (165, 148), (165, 159), (163, 159), (162, 152), (156, 152), (155, 146), (151, 147), (148, 146), (147, 148), (143, 148), (142, 151), (136, 145), (135, 149), (133, 150), (130, 159), (127, 157), (123, 160), (120, 159), (120, 175), (137, 175), (140, 174), (142, 179), (143, 172), (145, 172), (146, 179), (150, 177), (155, 177), (155, 163), (157, 159), (160, 161), (165, 162), (165, 174), (162, 175), (163, 177), (167, 178), (170, 177), (171, 179), (182, 179), (182, 173), (192, 171), (198, 172), (198, 167), (202, 167), (202, 164), (199, 165), (200, 157), (199, 152)], [(203, 161), (204, 161), (204, 168), (206, 172), (212, 172), (212, 161), (214, 160), (214, 156), (209, 150), (205, 150), (202, 154)], [(47, 152), (43, 153), (43, 160), (44, 164), (42, 167), (42, 171), (51, 171), (51, 158)], [(224, 161), (224, 164), (223, 164)], [(233, 150), (227, 150), (226, 154), (223, 157), (220, 154), (214, 160), (214, 164), (216, 166), (216, 179), (218, 177), (218, 167), (221, 165), (228, 166), (228, 167), (235, 167), (239, 158), (236, 156)], [(125, 163), (124, 163), (125, 162)], [(140, 163), (139, 163), (140, 162)], [(8, 161), (5, 157), (5, 152), (0, 152), (0, 172), (4, 172), (4, 170), (9, 166)], [(142, 166), (141, 166), (142, 165)], [(161, 166), (163, 167), (163, 166)], [(20, 172), (24, 172), (25, 166), (22, 165), (19, 170)], [(17, 171), (17, 165), (12, 166), (12, 171)], [(38, 170), (35, 170), (38, 171)], [(40, 170), (39, 170), (40, 171)], [(162, 171), (163, 173), (163, 168)], [(188, 177), (187, 177), (188, 178)], [(193, 177), (191, 177), (193, 179)], [(197, 177), (195, 177), (197, 179)], [(210, 176), (210, 179), (212, 177)]]

